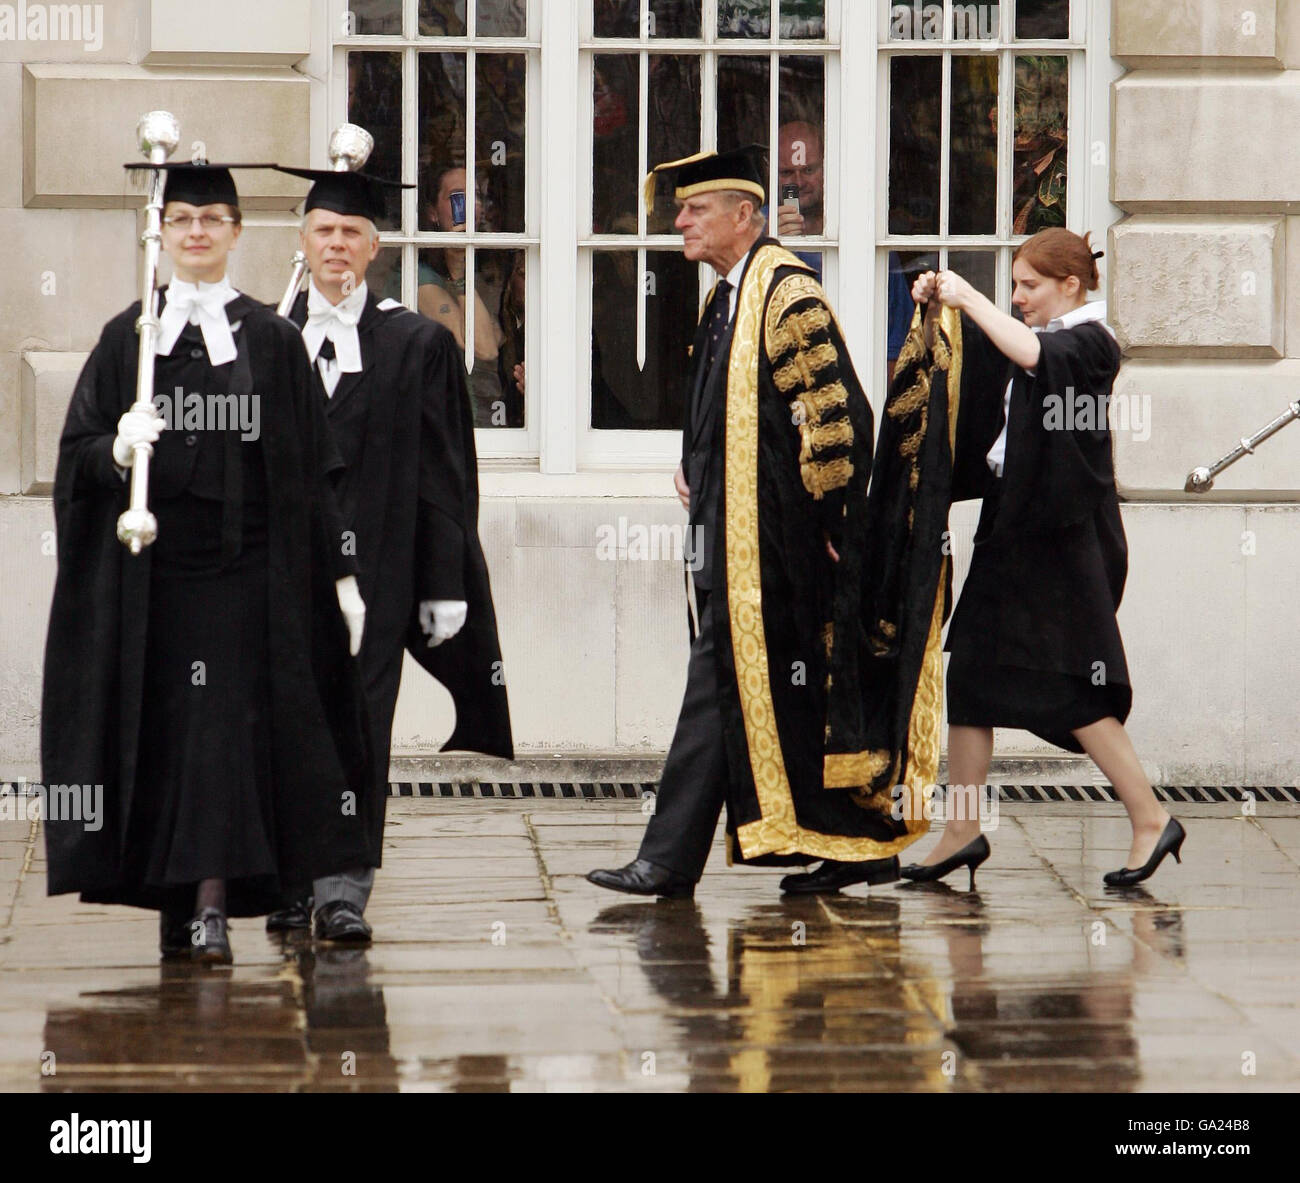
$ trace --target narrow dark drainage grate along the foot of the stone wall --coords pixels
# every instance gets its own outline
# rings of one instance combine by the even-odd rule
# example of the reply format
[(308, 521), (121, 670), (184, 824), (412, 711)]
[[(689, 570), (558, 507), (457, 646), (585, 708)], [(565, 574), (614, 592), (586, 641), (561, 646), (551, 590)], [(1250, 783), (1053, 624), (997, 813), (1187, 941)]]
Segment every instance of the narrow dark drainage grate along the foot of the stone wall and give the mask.
[[(389, 785), (390, 797), (438, 797), (474, 798), (488, 801), (640, 801), (646, 793), (654, 793), (659, 785), (654, 781), (641, 784), (612, 783), (558, 783), (558, 784), (448, 784), (430, 781), (400, 781)], [(1161, 801), (1187, 802), (1192, 805), (1232, 803), (1247, 800), (1251, 794), (1256, 801), (1280, 801), (1287, 805), (1300, 805), (1300, 789), (1294, 786), (1274, 788), (1252, 785), (1230, 788), (1225, 785), (1161, 785), (1156, 796)], [(1115, 801), (1109, 785), (998, 785), (998, 797), (1010, 802), (1088, 802)]]

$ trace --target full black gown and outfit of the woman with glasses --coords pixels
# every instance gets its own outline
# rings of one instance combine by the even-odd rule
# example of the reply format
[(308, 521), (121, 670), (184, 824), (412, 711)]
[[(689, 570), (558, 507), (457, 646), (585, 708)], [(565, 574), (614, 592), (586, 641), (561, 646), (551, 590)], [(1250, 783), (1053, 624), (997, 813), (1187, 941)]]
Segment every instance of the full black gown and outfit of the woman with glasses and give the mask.
[(96, 831), (47, 823), (49, 892), (170, 909), (222, 878), (229, 913), (255, 915), (373, 845), (364, 698), (334, 586), (356, 569), (338, 545), (339, 462), (300, 338), (239, 296), (226, 308), (238, 360), (211, 367), (187, 329), (157, 359), (155, 393), (254, 396), (259, 438), (165, 433), (160, 541), (133, 558), (116, 538), (129, 482), (112, 445), (135, 402), (139, 311), (105, 326), (60, 442), (43, 776), (101, 785), (105, 809)]

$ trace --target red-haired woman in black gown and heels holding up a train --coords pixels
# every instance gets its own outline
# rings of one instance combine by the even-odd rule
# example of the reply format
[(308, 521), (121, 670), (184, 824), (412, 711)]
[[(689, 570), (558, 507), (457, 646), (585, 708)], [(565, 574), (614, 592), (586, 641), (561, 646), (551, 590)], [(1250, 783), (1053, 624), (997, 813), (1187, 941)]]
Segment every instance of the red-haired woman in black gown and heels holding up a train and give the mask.
[[(949, 629), (948, 759), (954, 786), (984, 785), (993, 728), (1086, 751), (1115, 788), (1132, 824), (1124, 887), (1179, 857), (1183, 828), (1156, 800), (1123, 723), (1132, 701), (1115, 612), (1128, 552), (1108, 408), (1119, 347), (1088, 240), (1045, 230), (1015, 254), (1011, 303), (1001, 312), (953, 272), (913, 290), (961, 311), (962, 406), (953, 500), (983, 498), (971, 569)], [(927, 332), (932, 332), (927, 325)], [(967, 793), (971, 790), (967, 788)], [(953, 798), (956, 803), (956, 797)], [(978, 810), (949, 816), (926, 862), (907, 879), (940, 879), (988, 858)]]

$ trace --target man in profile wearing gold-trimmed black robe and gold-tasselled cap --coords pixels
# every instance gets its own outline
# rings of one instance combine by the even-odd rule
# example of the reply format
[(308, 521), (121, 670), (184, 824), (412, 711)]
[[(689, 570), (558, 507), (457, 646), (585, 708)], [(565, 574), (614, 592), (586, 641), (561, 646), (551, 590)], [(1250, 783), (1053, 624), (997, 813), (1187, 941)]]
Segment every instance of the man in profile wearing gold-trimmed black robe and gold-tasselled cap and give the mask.
[[(926, 823), (896, 818), (889, 790), (870, 790), (888, 763), (862, 728), (871, 407), (826, 292), (763, 237), (753, 155), (706, 153), (660, 172), (675, 172), (686, 259), (723, 277), (696, 334), (677, 473), (699, 630), (638, 858), (588, 878), (632, 894), (693, 894), (725, 803), (732, 861), (823, 861), (783, 890), (887, 883)], [(931, 675), (937, 641), (936, 630)], [(932, 723), (937, 760), (937, 714)]]

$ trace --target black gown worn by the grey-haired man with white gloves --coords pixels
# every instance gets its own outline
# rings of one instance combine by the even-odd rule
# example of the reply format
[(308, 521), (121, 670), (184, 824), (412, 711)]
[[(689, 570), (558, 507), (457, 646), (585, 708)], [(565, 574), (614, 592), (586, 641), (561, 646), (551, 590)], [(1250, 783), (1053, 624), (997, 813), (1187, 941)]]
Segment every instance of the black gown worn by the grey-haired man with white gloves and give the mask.
[[(307, 322), (307, 294), (290, 318)], [(447, 329), (369, 292), (358, 324), (361, 372), (315, 391), (343, 458), (339, 504), (355, 532), (365, 602), (361, 668), (370, 694), (376, 783), (387, 786), (403, 647), (448, 690), (456, 727), (445, 751), (514, 758), (510, 703), (488, 563), (478, 538), (478, 460), (464, 367)], [(464, 629), (437, 649), (420, 627), (424, 601), (465, 601)], [(391, 681), (391, 686), (389, 682)], [(377, 798), (374, 833), (382, 833)], [(367, 866), (380, 864), (376, 844)]]

